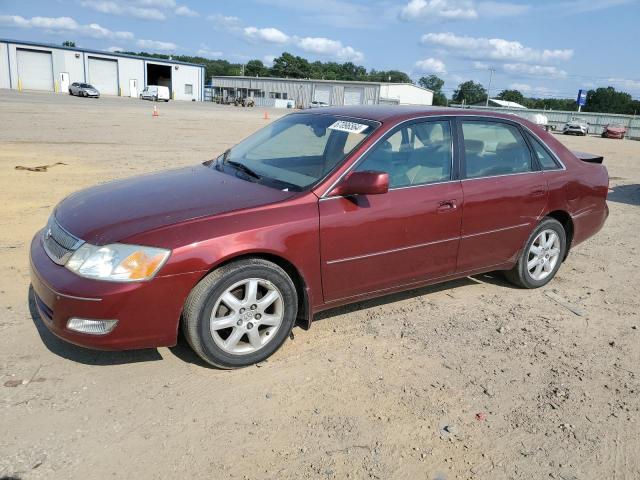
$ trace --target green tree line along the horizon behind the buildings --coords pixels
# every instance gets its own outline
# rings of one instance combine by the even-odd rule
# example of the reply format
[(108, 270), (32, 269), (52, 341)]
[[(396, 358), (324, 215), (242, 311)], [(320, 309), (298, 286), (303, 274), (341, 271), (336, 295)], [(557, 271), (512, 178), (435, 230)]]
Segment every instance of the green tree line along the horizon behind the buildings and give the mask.
[[(120, 52), (128, 55), (138, 55), (168, 60), (170, 58), (186, 63), (198, 63), (205, 67), (207, 79), (214, 76), (250, 77), (282, 77), (282, 78), (313, 78), (323, 80), (349, 80), (365, 82), (393, 82), (414, 83), (404, 72), (399, 70), (367, 70), (353, 62), (310, 62), (306, 58), (284, 52), (267, 66), (261, 60), (249, 60), (247, 63), (232, 63), (222, 59), (210, 59), (190, 55), (165, 55), (147, 52)], [(487, 90), (480, 83), (468, 80), (460, 83), (451, 98), (443, 92), (444, 80), (436, 75), (428, 75), (418, 80), (418, 85), (434, 92), (433, 104), (446, 106), (451, 103), (472, 105), (487, 99)], [(577, 92), (576, 92), (577, 96)], [(577, 111), (575, 98), (535, 98), (527, 97), (518, 90), (503, 90), (496, 98), (519, 103), (527, 108), (546, 110)], [(626, 92), (613, 87), (602, 87), (589, 90), (584, 112), (621, 113), (627, 115), (640, 114), (640, 101), (634, 100)]]

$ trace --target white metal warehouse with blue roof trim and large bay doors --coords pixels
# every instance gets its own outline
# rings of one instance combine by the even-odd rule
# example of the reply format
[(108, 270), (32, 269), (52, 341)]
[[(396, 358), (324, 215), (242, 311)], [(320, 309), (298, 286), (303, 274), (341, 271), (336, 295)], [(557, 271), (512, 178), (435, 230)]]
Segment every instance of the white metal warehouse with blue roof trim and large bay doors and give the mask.
[(175, 100), (201, 101), (204, 66), (0, 39), (0, 88), (66, 93), (74, 82), (122, 97), (138, 97), (147, 85), (163, 85)]

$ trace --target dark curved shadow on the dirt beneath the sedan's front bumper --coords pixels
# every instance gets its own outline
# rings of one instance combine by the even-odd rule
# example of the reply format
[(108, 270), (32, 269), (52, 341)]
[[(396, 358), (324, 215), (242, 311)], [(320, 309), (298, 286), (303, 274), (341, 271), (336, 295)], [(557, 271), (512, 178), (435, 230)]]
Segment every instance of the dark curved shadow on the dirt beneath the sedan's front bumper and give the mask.
[(144, 350), (125, 350), (121, 352), (90, 350), (59, 339), (49, 331), (47, 326), (44, 324), (42, 317), (40, 317), (34, 295), (33, 287), (30, 285), (29, 292), (27, 294), (27, 301), (29, 303), (31, 320), (38, 330), (38, 335), (40, 335), (42, 343), (44, 343), (45, 347), (47, 347), (51, 353), (73, 362), (96, 366), (122, 365), (125, 363), (162, 360), (162, 356), (155, 348), (147, 348)]

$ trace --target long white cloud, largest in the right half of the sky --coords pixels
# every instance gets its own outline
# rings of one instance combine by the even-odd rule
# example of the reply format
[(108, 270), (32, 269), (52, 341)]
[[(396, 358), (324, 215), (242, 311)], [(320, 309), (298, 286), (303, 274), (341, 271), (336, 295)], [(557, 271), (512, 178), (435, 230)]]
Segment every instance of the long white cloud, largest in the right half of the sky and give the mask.
[(422, 36), (422, 43), (437, 45), (459, 56), (480, 60), (548, 63), (568, 60), (573, 56), (571, 49), (536, 50), (517, 41), (460, 36), (454, 33), (427, 33)]

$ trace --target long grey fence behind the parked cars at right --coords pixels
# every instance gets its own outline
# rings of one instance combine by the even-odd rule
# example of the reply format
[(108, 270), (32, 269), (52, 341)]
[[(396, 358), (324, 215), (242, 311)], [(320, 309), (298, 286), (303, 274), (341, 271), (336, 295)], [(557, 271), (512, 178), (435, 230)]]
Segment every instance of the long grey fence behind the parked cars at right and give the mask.
[(505, 107), (471, 107), (474, 110), (486, 110), (490, 112), (511, 113), (520, 117), (531, 120), (533, 115), (541, 113), (549, 119), (549, 125), (555, 127), (556, 130), (562, 130), (562, 127), (569, 120), (578, 118), (589, 124), (589, 133), (600, 135), (605, 125), (610, 123), (619, 123), (627, 127), (627, 136), (640, 140), (640, 117), (635, 115), (618, 115), (614, 113), (592, 113), (592, 112), (564, 112), (556, 110), (530, 110), (522, 108), (505, 108)]

